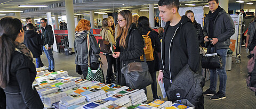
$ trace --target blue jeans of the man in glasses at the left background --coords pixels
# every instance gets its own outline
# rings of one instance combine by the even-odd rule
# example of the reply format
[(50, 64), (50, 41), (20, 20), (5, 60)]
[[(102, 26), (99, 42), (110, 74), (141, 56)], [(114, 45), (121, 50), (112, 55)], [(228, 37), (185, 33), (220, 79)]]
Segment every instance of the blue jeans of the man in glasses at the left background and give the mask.
[(48, 63), (49, 63), (48, 69), (54, 70), (54, 58), (52, 56), (52, 49), (46, 50), (45, 47), (43, 46), (43, 50), (44, 50), (46, 57), (48, 58)]

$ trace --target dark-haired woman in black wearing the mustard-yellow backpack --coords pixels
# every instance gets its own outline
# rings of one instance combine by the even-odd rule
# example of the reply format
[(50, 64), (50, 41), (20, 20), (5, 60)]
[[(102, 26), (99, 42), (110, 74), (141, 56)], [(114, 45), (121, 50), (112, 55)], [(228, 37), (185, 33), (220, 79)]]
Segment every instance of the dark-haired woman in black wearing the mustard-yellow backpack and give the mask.
[[(147, 33), (149, 32), (148, 36), (150, 37), (152, 42), (154, 60), (147, 61), (148, 71), (150, 72), (150, 75), (153, 79), (153, 83), (151, 84), (153, 100), (159, 99), (160, 97), (158, 97), (157, 95), (157, 83), (156, 83), (156, 71), (159, 71), (159, 64), (160, 64), (160, 61), (158, 59), (158, 53), (161, 52), (161, 49), (160, 49), (161, 43), (158, 38), (159, 34), (158, 32), (156, 32), (155, 30), (149, 27), (149, 19), (147, 18), (147, 16), (140, 16), (140, 18), (138, 19), (137, 26), (142, 35), (147, 35)], [(147, 94), (147, 89), (144, 88), (144, 90), (145, 90), (145, 93)]]

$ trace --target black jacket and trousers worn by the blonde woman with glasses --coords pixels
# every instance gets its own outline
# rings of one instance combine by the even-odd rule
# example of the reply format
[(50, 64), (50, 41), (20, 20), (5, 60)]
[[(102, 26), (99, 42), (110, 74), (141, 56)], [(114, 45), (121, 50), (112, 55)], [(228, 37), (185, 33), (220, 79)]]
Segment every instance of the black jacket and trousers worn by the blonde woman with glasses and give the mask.
[[(129, 39), (131, 38), (130, 42)], [(132, 23), (127, 36), (126, 47), (119, 46), (120, 37), (116, 39), (116, 52), (120, 52), (117, 61), (117, 83), (118, 85), (126, 86), (125, 79), (121, 73), (121, 69), (130, 62), (140, 62), (140, 56), (143, 54), (144, 41), (139, 30), (136, 28), (135, 23)], [(129, 46), (129, 49), (127, 47)]]

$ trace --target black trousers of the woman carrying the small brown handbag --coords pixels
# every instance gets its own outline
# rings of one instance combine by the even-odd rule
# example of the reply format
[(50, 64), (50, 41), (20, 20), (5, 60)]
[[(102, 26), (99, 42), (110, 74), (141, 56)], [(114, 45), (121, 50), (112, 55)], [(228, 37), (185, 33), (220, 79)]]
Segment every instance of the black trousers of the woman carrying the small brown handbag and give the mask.
[(113, 76), (113, 67), (114, 66), (114, 72), (116, 72), (116, 58), (113, 57), (112, 55), (105, 55), (107, 58), (107, 62), (108, 62), (108, 70), (107, 70), (107, 76), (108, 78), (110, 78), (111, 76)]

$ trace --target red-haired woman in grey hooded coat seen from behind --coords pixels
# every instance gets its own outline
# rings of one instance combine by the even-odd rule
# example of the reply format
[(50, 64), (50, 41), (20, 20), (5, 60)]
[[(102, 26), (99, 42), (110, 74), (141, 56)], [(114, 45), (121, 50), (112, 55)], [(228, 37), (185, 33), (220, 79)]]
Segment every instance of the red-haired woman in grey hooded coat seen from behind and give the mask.
[[(76, 53), (75, 64), (81, 66), (84, 79), (87, 77), (88, 70), (88, 58), (90, 56), (90, 67), (92, 70), (99, 68), (99, 53), (100, 47), (97, 44), (97, 40), (94, 35), (90, 32), (91, 26), (90, 21), (82, 19), (78, 22), (75, 32), (74, 49)], [(90, 41), (90, 53), (87, 49), (87, 35), (89, 34)]]

